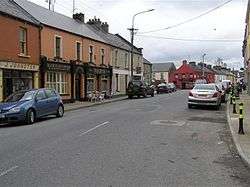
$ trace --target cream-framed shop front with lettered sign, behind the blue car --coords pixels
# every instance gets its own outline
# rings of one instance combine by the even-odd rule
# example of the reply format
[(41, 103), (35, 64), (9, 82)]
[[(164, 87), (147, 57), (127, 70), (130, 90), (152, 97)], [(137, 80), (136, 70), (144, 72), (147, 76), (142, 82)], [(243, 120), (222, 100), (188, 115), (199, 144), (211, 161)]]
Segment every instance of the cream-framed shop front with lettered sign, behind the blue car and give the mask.
[(0, 101), (20, 90), (38, 88), (39, 66), (0, 62)]

